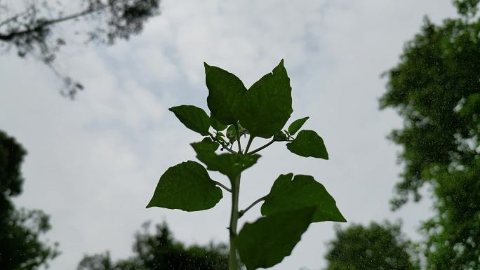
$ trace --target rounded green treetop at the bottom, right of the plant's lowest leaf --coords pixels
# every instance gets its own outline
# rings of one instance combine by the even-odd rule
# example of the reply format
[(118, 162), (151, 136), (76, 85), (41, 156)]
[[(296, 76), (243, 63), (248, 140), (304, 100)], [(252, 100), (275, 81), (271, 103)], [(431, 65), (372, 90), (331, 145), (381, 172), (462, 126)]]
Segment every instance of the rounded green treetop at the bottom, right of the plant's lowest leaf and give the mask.
[(335, 234), (325, 255), (326, 270), (420, 269), (415, 248), (401, 234), (400, 224), (337, 226)]

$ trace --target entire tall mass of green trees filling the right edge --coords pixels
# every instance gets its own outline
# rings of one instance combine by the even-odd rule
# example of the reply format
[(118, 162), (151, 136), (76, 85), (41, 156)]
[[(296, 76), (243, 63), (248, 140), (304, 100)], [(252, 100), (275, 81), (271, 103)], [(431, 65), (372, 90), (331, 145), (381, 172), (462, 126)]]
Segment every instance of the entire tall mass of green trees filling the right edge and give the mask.
[(428, 18), (385, 75), (382, 108), (404, 126), (390, 139), (403, 147), (402, 181), (392, 208), (429, 183), (436, 215), (428, 236), (427, 269), (480, 269), (480, 20), (479, 0), (456, 0), (459, 18)]

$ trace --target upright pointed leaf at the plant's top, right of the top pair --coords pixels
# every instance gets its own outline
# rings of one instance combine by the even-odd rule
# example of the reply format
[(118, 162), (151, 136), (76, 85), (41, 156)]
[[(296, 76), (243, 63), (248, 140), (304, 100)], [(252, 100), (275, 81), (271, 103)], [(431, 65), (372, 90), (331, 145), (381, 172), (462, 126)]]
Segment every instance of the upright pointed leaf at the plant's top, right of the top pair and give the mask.
[(240, 107), (240, 123), (251, 135), (269, 138), (285, 126), (293, 112), (292, 88), (284, 60), (244, 95)]

